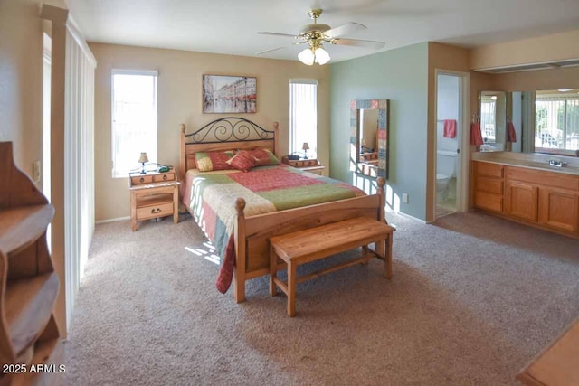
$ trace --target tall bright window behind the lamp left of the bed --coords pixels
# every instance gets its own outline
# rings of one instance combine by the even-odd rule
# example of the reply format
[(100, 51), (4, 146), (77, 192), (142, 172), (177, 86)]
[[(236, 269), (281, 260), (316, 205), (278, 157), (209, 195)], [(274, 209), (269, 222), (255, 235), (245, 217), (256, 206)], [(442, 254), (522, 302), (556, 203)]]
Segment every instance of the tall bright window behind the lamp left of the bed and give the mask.
[(157, 162), (157, 71), (112, 71), (112, 176)]

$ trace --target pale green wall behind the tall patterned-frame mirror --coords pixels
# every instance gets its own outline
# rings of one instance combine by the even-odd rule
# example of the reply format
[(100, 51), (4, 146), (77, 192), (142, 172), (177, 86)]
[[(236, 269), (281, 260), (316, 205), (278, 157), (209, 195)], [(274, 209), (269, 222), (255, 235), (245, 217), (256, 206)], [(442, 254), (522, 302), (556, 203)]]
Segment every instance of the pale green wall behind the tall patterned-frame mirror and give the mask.
[[(330, 176), (372, 193), (370, 182), (349, 170), (349, 106), (353, 99), (390, 99), (386, 203), (395, 211), (424, 220), (428, 43), (330, 66)], [(408, 203), (402, 202), (402, 193), (408, 193)]]

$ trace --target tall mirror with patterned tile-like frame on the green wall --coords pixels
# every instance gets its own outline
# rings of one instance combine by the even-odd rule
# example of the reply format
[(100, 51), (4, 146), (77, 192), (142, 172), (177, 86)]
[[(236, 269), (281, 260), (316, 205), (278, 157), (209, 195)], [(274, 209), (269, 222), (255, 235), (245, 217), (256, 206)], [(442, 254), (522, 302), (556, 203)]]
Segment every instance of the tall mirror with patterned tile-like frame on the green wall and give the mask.
[(350, 170), (388, 177), (388, 99), (350, 103)]

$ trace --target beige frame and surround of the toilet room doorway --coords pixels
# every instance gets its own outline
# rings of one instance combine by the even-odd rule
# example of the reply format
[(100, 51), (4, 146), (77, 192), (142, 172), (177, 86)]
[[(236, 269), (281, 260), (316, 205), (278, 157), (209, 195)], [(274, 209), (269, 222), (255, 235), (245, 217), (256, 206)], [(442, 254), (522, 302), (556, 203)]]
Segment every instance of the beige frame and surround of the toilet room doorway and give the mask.
[[(469, 161), (470, 161), (470, 144), (469, 144), (469, 106), (470, 106), (470, 73), (464, 71), (451, 71), (443, 69), (434, 69), (434, 111), (438, 111), (438, 77), (439, 75), (449, 75), (458, 77), (459, 80), (459, 143), (458, 148), (460, 153), (458, 155), (457, 164), (457, 184), (456, 184), (456, 212), (468, 212), (469, 210)], [(436, 115), (436, 114), (435, 114)], [(436, 117), (435, 119), (438, 119)], [(434, 130), (436, 130), (437, 122), (434, 122)], [(434, 138), (434, 151), (432, 152), (431, 165), (433, 165), (433, 184), (431, 189), (432, 194), (432, 219), (436, 221), (436, 149), (438, 148), (436, 133), (432, 136)]]

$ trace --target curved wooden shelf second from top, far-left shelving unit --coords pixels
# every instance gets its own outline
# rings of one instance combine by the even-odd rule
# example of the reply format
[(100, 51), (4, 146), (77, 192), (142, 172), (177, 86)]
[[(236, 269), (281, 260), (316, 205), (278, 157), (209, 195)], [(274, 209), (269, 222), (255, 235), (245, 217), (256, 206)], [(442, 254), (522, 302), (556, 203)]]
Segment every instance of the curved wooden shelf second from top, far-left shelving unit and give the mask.
[(16, 356), (42, 334), (51, 318), (58, 289), (55, 272), (6, 283), (5, 318)]

